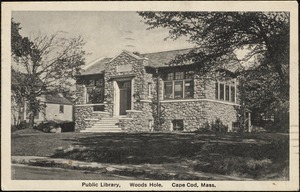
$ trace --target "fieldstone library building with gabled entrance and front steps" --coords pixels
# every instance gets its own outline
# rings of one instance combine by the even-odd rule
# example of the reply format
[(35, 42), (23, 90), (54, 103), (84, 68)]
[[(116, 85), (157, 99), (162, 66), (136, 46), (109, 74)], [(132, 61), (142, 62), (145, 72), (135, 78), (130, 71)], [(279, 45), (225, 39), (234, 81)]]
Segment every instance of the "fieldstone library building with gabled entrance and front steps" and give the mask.
[(189, 51), (123, 51), (85, 66), (77, 76), (75, 130), (193, 131), (217, 118), (231, 130), (238, 81), (199, 75), (192, 64), (167, 65)]

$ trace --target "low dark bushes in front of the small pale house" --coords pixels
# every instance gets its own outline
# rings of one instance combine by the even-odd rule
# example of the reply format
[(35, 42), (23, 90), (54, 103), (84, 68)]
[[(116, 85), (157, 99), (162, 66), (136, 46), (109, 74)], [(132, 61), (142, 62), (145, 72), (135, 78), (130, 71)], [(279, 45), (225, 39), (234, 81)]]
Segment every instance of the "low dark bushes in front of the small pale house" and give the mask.
[(50, 120), (43, 121), (35, 126), (35, 129), (45, 133), (50, 133), (52, 129), (56, 128), (61, 128), (61, 132), (72, 132), (75, 130), (75, 123), (72, 121)]

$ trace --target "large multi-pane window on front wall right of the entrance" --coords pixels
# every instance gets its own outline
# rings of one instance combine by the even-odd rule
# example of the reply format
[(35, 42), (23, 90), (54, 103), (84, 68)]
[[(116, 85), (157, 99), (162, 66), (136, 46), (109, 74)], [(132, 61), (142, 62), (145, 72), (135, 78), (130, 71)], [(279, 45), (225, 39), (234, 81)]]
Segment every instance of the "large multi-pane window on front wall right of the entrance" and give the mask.
[(190, 72), (171, 72), (164, 76), (164, 99), (193, 98), (194, 83)]

